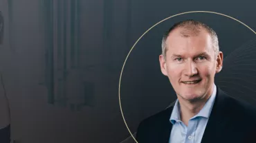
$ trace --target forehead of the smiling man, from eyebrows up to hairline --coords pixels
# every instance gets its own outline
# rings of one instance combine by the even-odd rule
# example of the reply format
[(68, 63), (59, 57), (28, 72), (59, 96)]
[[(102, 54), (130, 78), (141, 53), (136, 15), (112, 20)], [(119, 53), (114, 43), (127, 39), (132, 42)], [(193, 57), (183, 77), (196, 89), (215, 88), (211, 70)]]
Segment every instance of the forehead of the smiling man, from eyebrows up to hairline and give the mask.
[(166, 45), (168, 54), (198, 54), (198, 52), (210, 54), (214, 52), (212, 38), (204, 29), (196, 32), (176, 28), (167, 37)]

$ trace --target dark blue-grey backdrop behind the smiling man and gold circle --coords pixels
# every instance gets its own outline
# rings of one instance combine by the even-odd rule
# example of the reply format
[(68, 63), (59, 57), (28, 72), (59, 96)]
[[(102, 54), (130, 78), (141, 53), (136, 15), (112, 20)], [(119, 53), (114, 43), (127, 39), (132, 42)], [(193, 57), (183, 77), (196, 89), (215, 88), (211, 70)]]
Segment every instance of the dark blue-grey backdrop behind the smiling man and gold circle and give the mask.
[[(132, 142), (120, 112), (118, 84), (137, 39), (158, 21), (192, 10), (227, 14), (256, 30), (255, 5), (253, 0), (0, 0), (0, 71), (12, 140)], [(219, 36), (224, 61), (216, 85), (256, 104), (255, 34), (221, 15), (184, 14), (147, 32), (127, 59), (120, 96), (131, 133), (176, 99), (158, 55), (163, 32), (185, 19), (207, 23)]]

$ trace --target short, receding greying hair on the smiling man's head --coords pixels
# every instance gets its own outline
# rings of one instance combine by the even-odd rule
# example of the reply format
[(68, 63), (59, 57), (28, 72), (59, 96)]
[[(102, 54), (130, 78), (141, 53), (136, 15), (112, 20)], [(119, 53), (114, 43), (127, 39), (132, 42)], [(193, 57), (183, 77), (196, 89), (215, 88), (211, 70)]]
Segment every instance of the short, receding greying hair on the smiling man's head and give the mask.
[(172, 32), (176, 28), (184, 28), (185, 30), (183, 30), (181, 32), (181, 36), (185, 36), (185, 37), (196, 36), (197, 34), (199, 34), (199, 32), (201, 32), (201, 28), (206, 30), (212, 38), (212, 46), (214, 47), (215, 56), (217, 56), (217, 53), (219, 52), (219, 41), (218, 41), (218, 36), (217, 36), (216, 32), (214, 32), (214, 30), (212, 30), (212, 28), (210, 28), (205, 23), (202, 23), (199, 21), (194, 21), (193, 19), (188, 19), (185, 21), (181, 21), (179, 23), (175, 23), (163, 35), (162, 54), (163, 54), (164, 58), (166, 58), (166, 52), (167, 52), (167, 45), (166, 45), (167, 37), (169, 36), (170, 32)]

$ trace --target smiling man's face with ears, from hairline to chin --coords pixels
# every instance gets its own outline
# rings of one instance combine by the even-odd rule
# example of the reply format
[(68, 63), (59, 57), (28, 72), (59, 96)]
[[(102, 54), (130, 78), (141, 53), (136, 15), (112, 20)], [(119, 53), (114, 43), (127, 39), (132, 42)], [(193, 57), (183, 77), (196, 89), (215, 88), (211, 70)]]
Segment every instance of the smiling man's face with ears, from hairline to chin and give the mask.
[(193, 101), (211, 94), (214, 75), (221, 71), (223, 54), (214, 53), (206, 30), (188, 37), (181, 36), (182, 30), (176, 28), (169, 34), (166, 58), (161, 55), (159, 61), (161, 72), (169, 78), (178, 98)]

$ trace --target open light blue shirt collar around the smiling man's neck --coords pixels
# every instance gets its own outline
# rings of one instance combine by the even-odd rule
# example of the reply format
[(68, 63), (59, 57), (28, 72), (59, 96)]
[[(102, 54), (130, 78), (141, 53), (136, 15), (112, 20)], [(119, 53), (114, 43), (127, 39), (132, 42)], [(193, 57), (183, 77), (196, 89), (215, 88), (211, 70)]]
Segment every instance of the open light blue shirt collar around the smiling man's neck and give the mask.
[[(212, 106), (213, 106), (213, 103), (214, 103), (214, 100), (215, 100), (215, 97), (216, 97), (216, 93), (217, 93), (217, 87), (214, 84), (214, 89), (213, 89), (212, 95), (205, 102), (205, 105), (199, 111), (199, 113), (194, 115), (194, 117), (192, 117), (191, 119), (196, 118), (196, 117), (209, 118), (210, 112), (212, 111)], [(180, 115), (181, 115), (180, 105), (179, 105), (179, 100), (177, 99), (175, 104), (174, 104), (174, 109), (172, 109), (172, 115), (170, 117), (170, 122), (172, 122), (172, 124), (174, 124), (175, 122), (181, 122), (181, 116)]]

